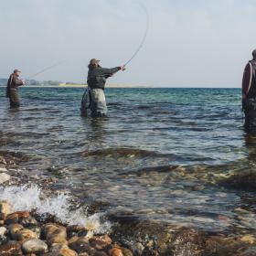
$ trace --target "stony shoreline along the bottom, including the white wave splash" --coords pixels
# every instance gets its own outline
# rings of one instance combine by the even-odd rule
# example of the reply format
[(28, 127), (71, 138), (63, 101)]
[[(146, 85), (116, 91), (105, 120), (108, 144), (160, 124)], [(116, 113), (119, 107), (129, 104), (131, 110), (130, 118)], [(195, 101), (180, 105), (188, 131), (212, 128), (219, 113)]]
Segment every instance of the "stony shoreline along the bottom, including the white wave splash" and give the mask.
[(254, 231), (208, 232), (150, 220), (110, 224), (69, 210), (65, 195), (42, 198), (14, 174), (0, 167), (1, 256), (256, 256)]

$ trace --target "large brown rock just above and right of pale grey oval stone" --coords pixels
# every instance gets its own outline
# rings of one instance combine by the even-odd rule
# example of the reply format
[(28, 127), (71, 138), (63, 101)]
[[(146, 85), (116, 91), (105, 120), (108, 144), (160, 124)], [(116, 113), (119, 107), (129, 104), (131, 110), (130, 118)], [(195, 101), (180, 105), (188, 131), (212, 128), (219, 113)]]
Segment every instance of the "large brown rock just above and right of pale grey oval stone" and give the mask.
[(44, 229), (48, 245), (53, 243), (67, 244), (67, 232), (63, 226), (57, 224), (47, 224)]

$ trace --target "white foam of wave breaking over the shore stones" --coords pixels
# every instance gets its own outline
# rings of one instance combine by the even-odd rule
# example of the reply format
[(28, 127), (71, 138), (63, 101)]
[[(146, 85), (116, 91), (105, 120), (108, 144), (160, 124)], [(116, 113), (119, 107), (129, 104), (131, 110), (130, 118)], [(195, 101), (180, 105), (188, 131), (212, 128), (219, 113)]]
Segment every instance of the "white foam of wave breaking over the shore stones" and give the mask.
[(70, 210), (70, 196), (61, 193), (57, 196), (46, 197), (36, 185), (21, 187), (0, 187), (0, 199), (7, 200), (17, 210), (35, 210), (39, 215), (49, 213), (70, 225), (82, 225), (94, 233), (109, 233), (111, 223), (103, 219), (102, 213), (91, 216), (83, 208)]

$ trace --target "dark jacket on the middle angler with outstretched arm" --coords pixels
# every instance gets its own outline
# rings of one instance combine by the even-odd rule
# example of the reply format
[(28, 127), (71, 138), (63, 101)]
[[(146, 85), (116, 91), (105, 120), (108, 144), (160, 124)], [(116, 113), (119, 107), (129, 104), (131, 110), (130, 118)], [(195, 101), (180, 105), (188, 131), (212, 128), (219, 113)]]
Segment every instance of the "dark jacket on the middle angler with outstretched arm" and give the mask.
[(111, 77), (113, 73), (120, 70), (120, 67), (112, 69), (104, 69), (99, 67), (89, 66), (87, 84), (91, 89), (102, 89), (105, 88), (107, 78)]

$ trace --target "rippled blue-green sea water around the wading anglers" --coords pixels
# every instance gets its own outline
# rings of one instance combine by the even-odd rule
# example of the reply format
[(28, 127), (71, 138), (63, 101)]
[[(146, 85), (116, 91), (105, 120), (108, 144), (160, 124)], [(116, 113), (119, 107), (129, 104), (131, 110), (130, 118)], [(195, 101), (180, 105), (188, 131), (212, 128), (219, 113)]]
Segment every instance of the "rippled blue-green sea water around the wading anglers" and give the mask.
[(19, 111), (0, 93), (1, 151), (27, 155), (31, 175), (120, 218), (237, 221), (239, 193), (204, 177), (251, 166), (239, 89), (107, 89), (109, 118), (99, 120), (80, 117), (83, 89), (23, 88)]

